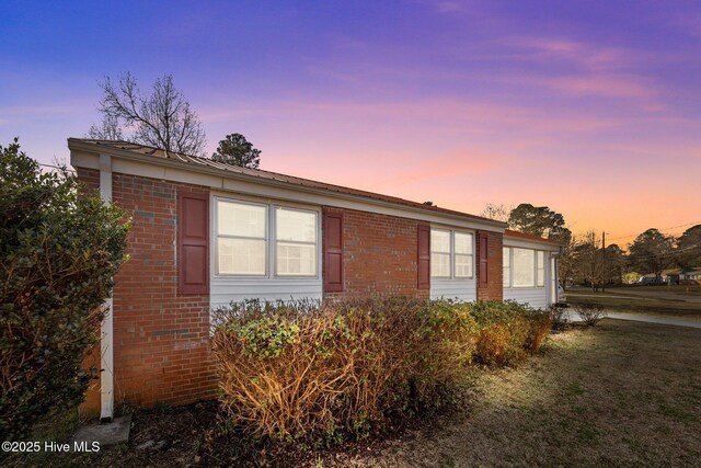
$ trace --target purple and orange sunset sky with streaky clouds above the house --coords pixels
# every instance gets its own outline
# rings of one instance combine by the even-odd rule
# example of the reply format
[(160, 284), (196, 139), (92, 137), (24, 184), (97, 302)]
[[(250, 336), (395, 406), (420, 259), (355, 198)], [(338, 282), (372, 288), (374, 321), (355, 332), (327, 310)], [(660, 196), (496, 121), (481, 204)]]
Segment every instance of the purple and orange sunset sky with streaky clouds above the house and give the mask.
[(67, 160), (99, 80), (172, 73), (262, 169), (621, 244), (701, 222), (698, 0), (114, 4), (0, 2), (1, 145)]

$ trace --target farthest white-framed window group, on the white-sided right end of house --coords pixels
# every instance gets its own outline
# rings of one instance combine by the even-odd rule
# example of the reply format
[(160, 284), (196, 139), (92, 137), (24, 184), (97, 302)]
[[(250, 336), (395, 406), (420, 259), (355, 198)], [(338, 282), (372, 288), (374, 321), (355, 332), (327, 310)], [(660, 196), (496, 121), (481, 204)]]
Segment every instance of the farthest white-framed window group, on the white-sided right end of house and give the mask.
[(502, 250), (504, 287), (544, 287), (545, 252), (505, 247)]

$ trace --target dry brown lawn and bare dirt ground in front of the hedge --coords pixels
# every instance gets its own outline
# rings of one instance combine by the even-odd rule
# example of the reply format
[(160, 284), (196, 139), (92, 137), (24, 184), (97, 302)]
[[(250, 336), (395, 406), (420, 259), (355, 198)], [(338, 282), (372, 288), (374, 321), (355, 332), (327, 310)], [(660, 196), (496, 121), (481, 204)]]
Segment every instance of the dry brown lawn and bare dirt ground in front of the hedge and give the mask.
[[(701, 467), (701, 330), (605, 319), (384, 440), (299, 453), (222, 438), (214, 403), (135, 414), (128, 444), (16, 466)], [(3, 465), (0, 463), (0, 465)]]

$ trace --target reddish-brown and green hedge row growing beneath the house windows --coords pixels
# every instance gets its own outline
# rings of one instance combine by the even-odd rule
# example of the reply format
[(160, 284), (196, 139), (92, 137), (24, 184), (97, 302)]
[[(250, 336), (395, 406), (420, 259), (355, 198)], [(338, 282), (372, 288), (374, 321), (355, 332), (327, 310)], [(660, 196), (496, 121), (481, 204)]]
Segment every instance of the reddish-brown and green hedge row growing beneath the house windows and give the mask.
[(550, 329), (515, 303), (244, 303), (214, 335), (221, 403), (274, 440), (340, 442), (452, 401), (473, 359), (520, 362)]

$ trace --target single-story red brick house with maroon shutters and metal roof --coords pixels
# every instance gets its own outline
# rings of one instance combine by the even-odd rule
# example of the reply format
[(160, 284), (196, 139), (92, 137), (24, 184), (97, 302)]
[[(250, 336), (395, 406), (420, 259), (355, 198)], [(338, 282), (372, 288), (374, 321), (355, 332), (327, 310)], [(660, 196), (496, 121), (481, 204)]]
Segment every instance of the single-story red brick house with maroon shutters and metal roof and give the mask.
[(78, 176), (133, 213), (85, 409), (214, 397), (214, 307), (376, 295), (556, 298), (560, 246), (446, 208), (125, 141), (68, 140)]

